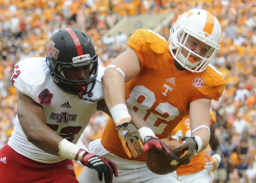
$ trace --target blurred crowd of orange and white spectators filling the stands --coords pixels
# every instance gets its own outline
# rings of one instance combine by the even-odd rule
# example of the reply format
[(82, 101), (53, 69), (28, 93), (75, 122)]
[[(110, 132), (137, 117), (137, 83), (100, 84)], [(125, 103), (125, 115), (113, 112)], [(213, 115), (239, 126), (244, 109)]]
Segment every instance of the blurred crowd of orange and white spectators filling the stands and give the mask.
[[(11, 135), (16, 115), (17, 91), (10, 81), (13, 66), (29, 57), (45, 57), (53, 33), (67, 27), (84, 30), (96, 45), (100, 65), (106, 66), (127, 48), (130, 35), (121, 28), (116, 36), (104, 36), (123, 16), (175, 13), (159, 32), (168, 39), (181, 12), (202, 8), (220, 20), (221, 47), (212, 64), (227, 82), (220, 100), (212, 101), (224, 151), (214, 181), (256, 183), (256, 1), (0, 0), (0, 4), (0, 148)], [(100, 138), (107, 118), (102, 112), (92, 117), (82, 137), (86, 147)], [(75, 166), (77, 172), (82, 169)], [(226, 179), (218, 179), (219, 173), (226, 173)]]

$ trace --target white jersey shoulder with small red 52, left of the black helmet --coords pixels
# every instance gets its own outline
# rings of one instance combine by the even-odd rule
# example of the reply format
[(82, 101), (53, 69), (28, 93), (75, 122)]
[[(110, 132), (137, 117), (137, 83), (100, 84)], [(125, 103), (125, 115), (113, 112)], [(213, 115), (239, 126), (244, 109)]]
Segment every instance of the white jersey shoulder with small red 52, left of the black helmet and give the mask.
[[(11, 75), (11, 82), (17, 90), (29, 96), (33, 86), (44, 83), (48, 65), (45, 58), (29, 58), (15, 64)], [(48, 70), (49, 72), (49, 70)]]

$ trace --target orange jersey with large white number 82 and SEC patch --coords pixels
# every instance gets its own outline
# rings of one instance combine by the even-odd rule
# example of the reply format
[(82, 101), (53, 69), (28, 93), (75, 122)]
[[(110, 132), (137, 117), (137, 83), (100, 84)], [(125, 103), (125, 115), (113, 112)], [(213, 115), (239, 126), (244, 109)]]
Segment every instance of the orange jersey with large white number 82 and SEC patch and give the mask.
[[(140, 60), (140, 73), (125, 83), (125, 99), (159, 138), (166, 138), (189, 112), (189, 103), (200, 98), (218, 100), (225, 79), (213, 66), (202, 73), (177, 70), (168, 41), (148, 29), (138, 29), (128, 46)], [(109, 119), (102, 145), (111, 153), (129, 159)], [(130, 158), (145, 161), (146, 155)]]

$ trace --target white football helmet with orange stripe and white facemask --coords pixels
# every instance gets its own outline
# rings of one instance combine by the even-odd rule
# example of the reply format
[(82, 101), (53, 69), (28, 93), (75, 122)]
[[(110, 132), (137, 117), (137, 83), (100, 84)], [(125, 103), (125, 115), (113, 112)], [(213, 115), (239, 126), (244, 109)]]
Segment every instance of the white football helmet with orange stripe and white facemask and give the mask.
[[(189, 36), (193, 36), (211, 47), (204, 57), (185, 46)], [(183, 68), (191, 72), (203, 72), (220, 49), (220, 38), (221, 27), (217, 18), (205, 10), (192, 9), (180, 15), (175, 24), (172, 25), (169, 48), (174, 59)], [(181, 53), (182, 48), (188, 51), (187, 57)], [(190, 54), (201, 60), (196, 62), (189, 61)]]

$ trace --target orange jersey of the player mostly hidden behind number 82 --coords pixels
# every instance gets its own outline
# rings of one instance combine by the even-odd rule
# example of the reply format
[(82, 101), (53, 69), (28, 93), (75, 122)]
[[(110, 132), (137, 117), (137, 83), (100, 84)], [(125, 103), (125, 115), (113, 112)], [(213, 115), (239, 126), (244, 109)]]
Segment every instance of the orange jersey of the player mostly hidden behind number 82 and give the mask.
[[(216, 116), (212, 111), (210, 111), (210, 114), (211, 114), (211, 124), (214, 124), (216, 122)], [(191, 136), (189, 115), (186, 115), (182, 118), (181, 122), (172, 131), (172, 135), (186, 136), (186, 137)], [(196, 173), (198, 171), (204, 170), (204, 164), (205, 164), (204, 151), (202, 151), (196, 154), (189, 164), (181, 165), (176, 170), (176, 172), (178, 175), (188, 175), (191, 173)]]

